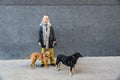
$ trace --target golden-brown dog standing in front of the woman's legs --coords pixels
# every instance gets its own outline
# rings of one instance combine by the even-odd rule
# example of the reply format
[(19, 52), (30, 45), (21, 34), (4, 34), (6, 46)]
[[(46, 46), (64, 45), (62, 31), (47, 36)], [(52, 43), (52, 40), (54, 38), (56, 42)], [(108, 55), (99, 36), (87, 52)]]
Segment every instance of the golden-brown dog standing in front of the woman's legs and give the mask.
[(31, 68), (35, 68), (35, 62), (37, 59), (44, 62), (45, 67), (48, 67), (48, 60), (50, 59), (51, 53), (46, 51), (45, 53), (33, 52), (30, 56), (26, 57), (31, 59)]

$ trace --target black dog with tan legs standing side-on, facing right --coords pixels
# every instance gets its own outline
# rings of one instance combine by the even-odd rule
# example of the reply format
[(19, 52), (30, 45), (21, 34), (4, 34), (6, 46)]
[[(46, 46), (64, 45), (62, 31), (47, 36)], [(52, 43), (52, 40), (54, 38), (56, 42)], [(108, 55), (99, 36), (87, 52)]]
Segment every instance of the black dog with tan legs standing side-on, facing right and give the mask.
[(60, 62), (62, 62), (64, 65), (70, 66), (70, 75), (73, 75), (72, 69), (74, 70), (74, 73), (76, 73), (75, 64), (79, 57), (83, 57), (79, 52), (77, 52), (71, 56), (59, 54), (57, 56), (57, 60), (56, 60), (56, 65), (57, 65), (58, 70), (60, 70)]

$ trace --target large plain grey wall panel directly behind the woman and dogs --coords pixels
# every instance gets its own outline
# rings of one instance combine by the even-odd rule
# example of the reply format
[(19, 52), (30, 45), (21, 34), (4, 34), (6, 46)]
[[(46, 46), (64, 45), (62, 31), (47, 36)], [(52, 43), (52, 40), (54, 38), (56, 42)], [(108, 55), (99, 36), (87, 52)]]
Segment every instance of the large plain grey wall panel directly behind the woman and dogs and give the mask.
[(58, 54), (120, 55), (120, 6), (0, 6), (0, 59), (20, 59), (38, 46), (38, 26), (49, 15)]

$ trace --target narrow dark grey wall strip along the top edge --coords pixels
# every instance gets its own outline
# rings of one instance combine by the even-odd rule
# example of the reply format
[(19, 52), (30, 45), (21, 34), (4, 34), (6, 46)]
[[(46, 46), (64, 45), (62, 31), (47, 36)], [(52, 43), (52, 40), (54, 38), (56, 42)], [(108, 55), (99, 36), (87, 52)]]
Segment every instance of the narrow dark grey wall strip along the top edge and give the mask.
[(0, 0), (1, 5), (120, 5), (120, 0)]

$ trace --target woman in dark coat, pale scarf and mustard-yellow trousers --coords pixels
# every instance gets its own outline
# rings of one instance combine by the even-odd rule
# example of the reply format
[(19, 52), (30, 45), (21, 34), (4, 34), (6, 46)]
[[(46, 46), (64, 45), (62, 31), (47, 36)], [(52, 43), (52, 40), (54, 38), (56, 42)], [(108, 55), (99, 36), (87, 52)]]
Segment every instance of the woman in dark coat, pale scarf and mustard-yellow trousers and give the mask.
[[(49, 17), (47, 15), (43, 16), (42, 22), (39, 26), (39, 40), (38, 44), (42, 47), (41, 52), (45, 53), (45, 51), (51, 52), (50, 63), (52, 66), (55, 66), (54, 61), (54, 46), (56, 45), (56, 38), (54, 29), (51, 26), (49, 21)], [(44, 66), (42, 62), (41, 67)]]

